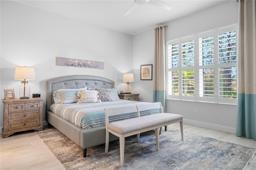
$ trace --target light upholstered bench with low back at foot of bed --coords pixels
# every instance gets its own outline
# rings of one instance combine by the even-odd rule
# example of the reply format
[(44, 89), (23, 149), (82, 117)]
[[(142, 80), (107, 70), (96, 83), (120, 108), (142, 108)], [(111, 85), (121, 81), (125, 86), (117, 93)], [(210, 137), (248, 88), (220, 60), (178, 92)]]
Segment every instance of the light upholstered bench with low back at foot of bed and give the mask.
[[(140, 117), (140, 111), (160, 109), (159, 114), (152, 114)], [(180, 122), (181, 137), (183, 140), (183, 117), (178, 114), (161, 113), (161, 103), (147, 103), (140, 105), (128, 105), (120, 107), (108, 107), (104, 109), (106, 115), (106, 146), (105, 152), (108, 152), (109, 132), (119, 137), (120, 142), (120, 162), (124, 165), (124, 140), (127, 136), (137, 134), (137, 142), (140, 133), (155, 129), (156, 150), (159, 150), (159, 129), (172, 123)], [(137, 117), (122, 121), (109, 123), (109, 117), (122, 115), (126, 113), (137, 112)]]

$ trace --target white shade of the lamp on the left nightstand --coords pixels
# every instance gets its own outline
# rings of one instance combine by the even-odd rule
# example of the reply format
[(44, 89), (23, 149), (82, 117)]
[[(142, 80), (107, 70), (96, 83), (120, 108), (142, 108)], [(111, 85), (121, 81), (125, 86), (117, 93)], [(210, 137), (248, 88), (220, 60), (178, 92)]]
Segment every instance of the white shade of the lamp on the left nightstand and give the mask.
[(35, 69), (33, 67), (16, 67), (15, 68), (15, 74), (14, 74), (15, 80), (35, 80)]

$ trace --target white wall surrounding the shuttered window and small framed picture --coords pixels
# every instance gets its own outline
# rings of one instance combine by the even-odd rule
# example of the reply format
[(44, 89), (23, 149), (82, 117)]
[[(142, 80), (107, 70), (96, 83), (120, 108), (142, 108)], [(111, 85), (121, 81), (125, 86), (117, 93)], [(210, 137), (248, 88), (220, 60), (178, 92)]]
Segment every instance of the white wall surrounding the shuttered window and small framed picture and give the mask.
[[(166, 40), (190, 36), (214, 28), (236, 24), (238, 22), (238, 3), (229, 1), (201, 12), (165, 23)], [(153, 28), (133, 37), (133, 67), (136, 77), (140, 76), (140, 65), (154, 62), (154, 31)], [(153, 63), (154, 65), (154, 63)], [(154, 79), (154, 77), (153, 77)], [(134, 82), (140, 91), (140, 99), (152, 102), (153, 81)], [(194, 114), (194, 110), (198, 114)], [(236, 105), (202, 103), (195, 101), (166, 100), (166, 112), (183, 115), (184, 122), (207, 128), (214, 128), (235, 133)]]

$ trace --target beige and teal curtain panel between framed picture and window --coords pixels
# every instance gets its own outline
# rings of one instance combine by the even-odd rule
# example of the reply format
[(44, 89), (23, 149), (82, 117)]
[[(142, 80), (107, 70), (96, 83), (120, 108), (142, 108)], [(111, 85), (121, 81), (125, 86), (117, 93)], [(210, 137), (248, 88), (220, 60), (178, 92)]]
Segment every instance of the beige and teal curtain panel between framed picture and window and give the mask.
[(164, 26), (159, 26), (154, 30), (155, 50), (153, 102), (161, 102), (165, 111), (165, 28)]

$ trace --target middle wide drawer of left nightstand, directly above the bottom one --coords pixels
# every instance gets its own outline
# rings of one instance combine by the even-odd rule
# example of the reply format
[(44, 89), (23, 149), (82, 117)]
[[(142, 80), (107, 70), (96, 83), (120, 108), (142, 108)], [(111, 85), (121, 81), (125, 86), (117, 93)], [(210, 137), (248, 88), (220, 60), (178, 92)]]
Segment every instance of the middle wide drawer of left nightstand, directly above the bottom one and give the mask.
[(24, 112), (24, 113), (10, 113), (8, 114), (8, 121), (18, 121), (22, 119), (35, 119), (39, 117), (39, 111)]

